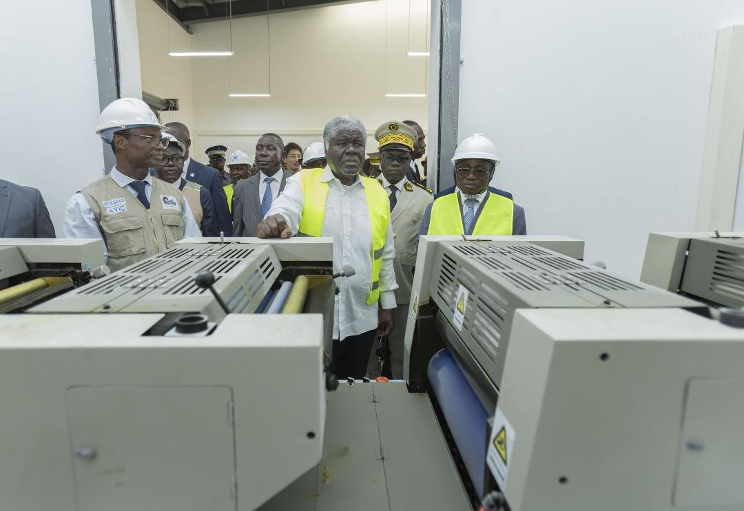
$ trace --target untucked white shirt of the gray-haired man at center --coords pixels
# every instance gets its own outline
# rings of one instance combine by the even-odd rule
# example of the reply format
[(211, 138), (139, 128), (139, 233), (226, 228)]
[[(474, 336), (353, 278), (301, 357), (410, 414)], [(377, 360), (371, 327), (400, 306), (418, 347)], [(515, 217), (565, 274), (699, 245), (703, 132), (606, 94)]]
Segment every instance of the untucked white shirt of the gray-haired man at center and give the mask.
[[(292, 229), (292, 235), (300, 228), (304, 205), (300, 174), (287, 178), (284, 191), (266, 213), (266, 216), (282, 215)], [(351, 277), (336, 279), (339, 294), (334, 303), (333, 338), (343, 341), (350, 335), (377, 328), (377, 303), (367, 305), (372, 280), (372, 227), (369, 210), (362, 206), (367, 204), (367, 197), (359, 176), (356, 176), (354, 184), (345, 186), (333, 176), (330, 167), (325, 167), (321, 181), (328, 183), (322, 234), (333, 237), (333, 271), (339, 271), (347, 264), (356, 270)], [(394, 309), (397, 305), (394, 257), (393, 231), (388, 224), (382, 249), (382, 269), (379, 271), (379, 307), (382, 309)]]

